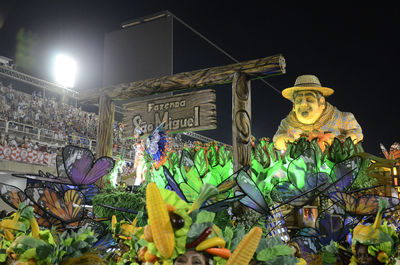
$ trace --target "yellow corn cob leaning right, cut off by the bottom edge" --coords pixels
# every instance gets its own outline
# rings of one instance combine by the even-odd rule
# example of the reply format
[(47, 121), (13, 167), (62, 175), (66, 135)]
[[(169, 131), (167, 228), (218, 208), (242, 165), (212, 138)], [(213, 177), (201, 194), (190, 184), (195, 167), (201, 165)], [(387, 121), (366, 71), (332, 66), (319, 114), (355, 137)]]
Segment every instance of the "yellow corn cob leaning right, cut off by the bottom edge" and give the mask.
[(256, 252), (261, 235), (262, 229), (257, 226), (253, 227), (240, 241), (225, 265), (248, 265)]

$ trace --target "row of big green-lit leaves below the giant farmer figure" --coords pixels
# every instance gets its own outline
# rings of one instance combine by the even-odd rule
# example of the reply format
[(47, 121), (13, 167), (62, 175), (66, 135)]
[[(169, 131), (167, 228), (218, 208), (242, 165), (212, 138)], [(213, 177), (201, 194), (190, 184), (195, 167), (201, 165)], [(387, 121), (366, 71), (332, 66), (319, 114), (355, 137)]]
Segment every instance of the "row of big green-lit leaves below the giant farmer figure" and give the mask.
[[(310, 149), (313, 152), (307, 151)], [(215, 142), (206, 144), (195, 142), (194, 147), (185, 147), (184, 150), (191, 155), (196, 171), (203, 183), (217, 186), (233, 174), (231, 146), (218, 146)], [(267, 203), (271, 204), (273, 202), (269, 194), (274, 185), (288, 181), (287, 170), (289, 165), (293, 164), (294, 168), (305, 168), (305, 161), (298, 159), (301, 155), (315, 155), (315, 157), (310, 157), (309, 160), (315, 163), (312, 167), (318, 172), (330, 174), (333, 179), (338, 179), (341, 176), (333, 175), (334, 166), (352, 156), (358, 156), (362, 152), (364, 150), (361, 142), (354, 144), (351, 138), (334, 138), (329, 146), (326, 143), (321, 144), (318, 138), (310, 139), (307, 136), (302, 136), (295, 142), (288, 143), (286, 152), (281, 153), (274, 148), (274, 144), (269, 141), (269, 138), (264, 137), (258, 141), (252, 141), (251, 177), (264, 194)], [(180, 160), (181, 151), (170, 152), (168, 153), (168, 162), (165, 165), (178, 184), (187, 182), (188, 179), (184, 170), (180, 168)], [(370, 159), (362, 157), (358, 177), (351, 189), (370, 187), (376, 184), (376, 180), (370, 178), (367, 174), (370, 164)], [(159, 187), (165, 187), (167, 184), (163, 170), (152, 170), (150, 175)], [(298, 178), (300, 179), (297, 179), (296, 182), (304, 183), (306, 176), (306, 172), (299, 174)], [(193, 178), (189, 181), (193, 181)]]

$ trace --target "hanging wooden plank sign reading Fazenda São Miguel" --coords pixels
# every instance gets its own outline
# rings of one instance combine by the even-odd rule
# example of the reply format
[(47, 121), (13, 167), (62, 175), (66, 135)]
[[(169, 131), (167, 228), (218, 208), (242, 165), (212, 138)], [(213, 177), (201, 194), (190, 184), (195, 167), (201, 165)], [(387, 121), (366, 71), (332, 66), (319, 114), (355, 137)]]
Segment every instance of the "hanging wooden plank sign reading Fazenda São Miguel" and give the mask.
[(132, 137), (139, 127), (149, 134), (165, 121), (168, 132), (217, 128), (216, 94), (213, 89), (171, 97), (135, 101), (124, 105), (124, 137)]

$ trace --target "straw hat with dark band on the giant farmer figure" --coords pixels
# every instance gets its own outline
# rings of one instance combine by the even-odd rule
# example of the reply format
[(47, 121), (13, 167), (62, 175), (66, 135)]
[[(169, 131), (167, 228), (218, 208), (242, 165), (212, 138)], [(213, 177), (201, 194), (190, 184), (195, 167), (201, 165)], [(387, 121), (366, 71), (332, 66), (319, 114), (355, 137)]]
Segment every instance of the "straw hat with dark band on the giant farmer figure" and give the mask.
[(335, 92), (332, 88), (322, 87), (318, 77), (315, 75), (301, 75), (296, 78), (293, 87), (286, 88), (282, 91), (282, 96), (292, 100), (292, 95), (295, 91), (303, 90), (316, 90), (319, 91), (324, 97), (330, 96)]

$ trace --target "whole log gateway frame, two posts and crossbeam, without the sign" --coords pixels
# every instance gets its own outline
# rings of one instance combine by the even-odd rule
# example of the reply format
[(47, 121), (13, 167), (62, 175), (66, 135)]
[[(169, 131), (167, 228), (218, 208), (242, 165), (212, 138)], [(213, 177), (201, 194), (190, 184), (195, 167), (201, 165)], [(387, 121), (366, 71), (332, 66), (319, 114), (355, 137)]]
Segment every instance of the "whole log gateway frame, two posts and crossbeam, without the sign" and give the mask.
[(84, 92), (80, 95), (80, 102), (99, 102), (96, 156), (112, 156), (114, 101), (232, 82), (234, 170), (247, 165), (251, 166), (250, 80), (284, 74), (285, 67), (284, 57), (278, 54), (226, 66), (123, 83)]

